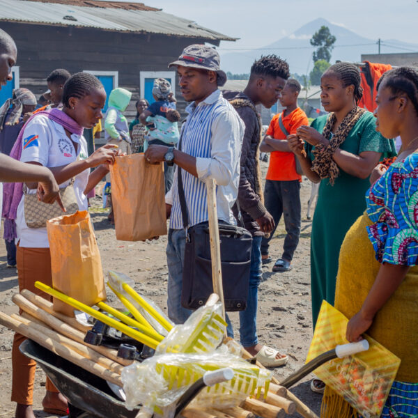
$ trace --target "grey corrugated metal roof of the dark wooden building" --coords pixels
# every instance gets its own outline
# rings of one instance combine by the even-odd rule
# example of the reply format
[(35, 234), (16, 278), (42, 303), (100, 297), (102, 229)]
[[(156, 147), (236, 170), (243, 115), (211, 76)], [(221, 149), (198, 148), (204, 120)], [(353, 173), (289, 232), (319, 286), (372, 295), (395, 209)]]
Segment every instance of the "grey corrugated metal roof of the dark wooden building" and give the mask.
[(72, 6), (29, 0), (1, 0), (1, 20), (91, 27), (108, 31), (162, 33), (204, 38), (208, 41), (237, 39), (162, 11)]

